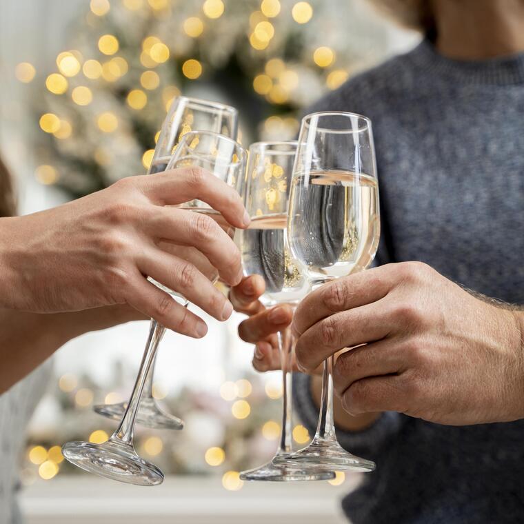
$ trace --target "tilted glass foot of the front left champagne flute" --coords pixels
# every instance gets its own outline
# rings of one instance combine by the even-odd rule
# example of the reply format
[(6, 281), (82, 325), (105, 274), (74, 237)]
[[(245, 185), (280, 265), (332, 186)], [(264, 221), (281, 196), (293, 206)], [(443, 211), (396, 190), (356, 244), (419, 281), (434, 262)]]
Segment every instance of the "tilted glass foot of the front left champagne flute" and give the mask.
[(139, 457), (130, 445), (112, 441), (103, 444), (68, 442), (62, 446), (62, 454), (82, 470), (113, 481), (141, 486), (163, 482), (161, 470)]

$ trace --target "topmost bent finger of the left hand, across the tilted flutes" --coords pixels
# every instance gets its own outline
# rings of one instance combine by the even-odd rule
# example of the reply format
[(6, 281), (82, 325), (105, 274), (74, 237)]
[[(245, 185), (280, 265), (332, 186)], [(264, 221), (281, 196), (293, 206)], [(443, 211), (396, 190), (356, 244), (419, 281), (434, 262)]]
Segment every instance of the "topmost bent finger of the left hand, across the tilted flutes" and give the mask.
[(145, 177), (148, 180), (139, 182), (157, 203), (176, 205), (199, 199), (220, 212), (234, 227), (250, 225), (250, 216), (239, 192), (202, 168), (179, 168)]

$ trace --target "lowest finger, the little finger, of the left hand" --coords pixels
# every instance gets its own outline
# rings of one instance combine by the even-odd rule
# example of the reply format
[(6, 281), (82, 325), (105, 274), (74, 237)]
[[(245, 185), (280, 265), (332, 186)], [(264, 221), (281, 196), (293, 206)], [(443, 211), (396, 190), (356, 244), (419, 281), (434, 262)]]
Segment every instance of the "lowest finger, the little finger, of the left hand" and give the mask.
[(128, 303), (177, 333), (201, 339), (208, 332), (208, 326), (202, 319), (174, 301), (156, 285), (145, 280), (142, 275), (137, 275), (137, 278), (130, 282)]

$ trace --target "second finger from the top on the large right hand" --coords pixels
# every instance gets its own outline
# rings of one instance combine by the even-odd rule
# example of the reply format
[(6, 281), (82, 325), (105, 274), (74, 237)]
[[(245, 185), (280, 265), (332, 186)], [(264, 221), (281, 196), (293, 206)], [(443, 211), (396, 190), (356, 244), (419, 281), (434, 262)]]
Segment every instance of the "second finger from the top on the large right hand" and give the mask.
[(332, 314), (299, 336), (296, 361), (305, 372), (311, 372), (337, 351), (383, 339), (390, 331), (381, 301)]

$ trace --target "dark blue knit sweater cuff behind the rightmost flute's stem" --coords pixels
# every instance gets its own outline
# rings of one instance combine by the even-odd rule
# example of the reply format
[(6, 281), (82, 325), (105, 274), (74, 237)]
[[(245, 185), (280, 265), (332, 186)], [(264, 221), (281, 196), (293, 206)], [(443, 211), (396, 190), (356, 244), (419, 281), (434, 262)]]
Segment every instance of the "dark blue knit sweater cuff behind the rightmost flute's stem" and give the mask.
[[(293, 398), (296, 411), (310, 434), (316, 430), (319, 410), (316, 407), (310, 387), (310, 376), (293, 374)], [(370, 427), (358, 432), (336, 430), (339, 443), (352, 454), (375, 458), (392, 439), (399, 434), (405, 416), (397, 412), (383, 412)]]

